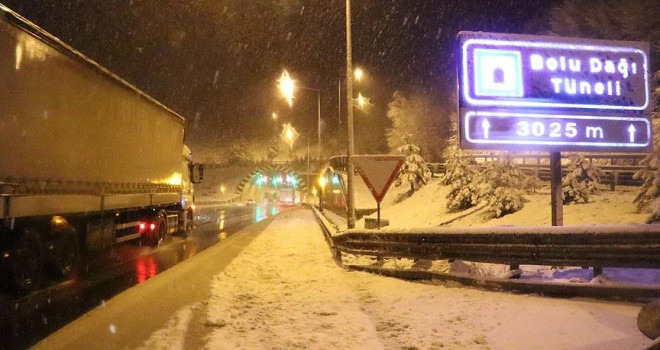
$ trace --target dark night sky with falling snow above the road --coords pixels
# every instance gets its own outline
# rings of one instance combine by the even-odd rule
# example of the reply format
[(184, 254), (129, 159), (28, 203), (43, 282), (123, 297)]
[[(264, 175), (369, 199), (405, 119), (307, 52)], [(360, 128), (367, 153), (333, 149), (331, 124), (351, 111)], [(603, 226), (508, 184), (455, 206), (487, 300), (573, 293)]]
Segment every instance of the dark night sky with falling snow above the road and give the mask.
[[(324, 135), (345, 138), (344, 0), (0, 1), (180, 113), (193, 145), (269, 137), (272, 112), (313, 134), (316, 94), (299, 92), (289, 108), (276, 93), (283, 68), (323, 90)], [(356, 113), (356, 138), (385, 130), (395, 90), (448, 100), (460, 30), (542, 34), (556, 4), (353, 0), (353, 64), (368, 74), (356, 94), (375, 104)]]

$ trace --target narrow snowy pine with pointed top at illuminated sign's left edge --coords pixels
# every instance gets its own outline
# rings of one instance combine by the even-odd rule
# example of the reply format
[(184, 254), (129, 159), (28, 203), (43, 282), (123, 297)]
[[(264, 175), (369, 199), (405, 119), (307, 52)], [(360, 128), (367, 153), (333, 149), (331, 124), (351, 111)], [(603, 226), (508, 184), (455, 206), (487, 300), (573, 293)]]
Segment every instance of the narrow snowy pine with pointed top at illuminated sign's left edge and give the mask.
[(463, 151), (458, 148), (455, 123), (452, 124), (451, 134), (443, 152), (445, 175), (442, 184), (450, 186), (447, 194), (447, 209), (462, 210), (477, 205), (479, 201), (476, 187), (479, 171), (476, 162), (471, 158), (463, 157)]

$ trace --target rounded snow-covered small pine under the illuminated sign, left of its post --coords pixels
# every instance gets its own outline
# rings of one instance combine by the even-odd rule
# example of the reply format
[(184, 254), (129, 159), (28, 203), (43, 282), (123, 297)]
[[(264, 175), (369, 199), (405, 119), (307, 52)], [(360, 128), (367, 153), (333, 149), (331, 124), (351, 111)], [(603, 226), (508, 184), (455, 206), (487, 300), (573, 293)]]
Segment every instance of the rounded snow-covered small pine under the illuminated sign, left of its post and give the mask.
[(486, 165), (479, 176), (479, 198), (487, 202), (487, 210), (499, 218), (523, 207), (522, 188), (526, 175), (512, 162), (508, 153)]

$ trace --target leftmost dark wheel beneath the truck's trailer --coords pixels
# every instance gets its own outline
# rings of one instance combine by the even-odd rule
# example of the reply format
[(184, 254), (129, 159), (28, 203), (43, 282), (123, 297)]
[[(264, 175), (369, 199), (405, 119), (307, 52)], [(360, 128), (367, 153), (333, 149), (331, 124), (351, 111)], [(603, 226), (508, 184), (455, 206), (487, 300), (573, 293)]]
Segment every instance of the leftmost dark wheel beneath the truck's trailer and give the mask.
[(14, 245), (11, 259), (12, 287), (17, 295), (37, 290), (43, 283), (42, 236), (24, 231)]

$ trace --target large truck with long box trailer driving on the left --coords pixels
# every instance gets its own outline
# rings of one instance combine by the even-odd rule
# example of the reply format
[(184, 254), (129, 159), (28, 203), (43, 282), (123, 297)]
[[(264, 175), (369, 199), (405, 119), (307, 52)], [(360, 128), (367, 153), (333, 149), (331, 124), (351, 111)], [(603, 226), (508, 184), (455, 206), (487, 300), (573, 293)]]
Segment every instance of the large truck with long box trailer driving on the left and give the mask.
[(1, 4), (0, 84), (2, 286), (190, 230), (202, 168), (180, 115)]

